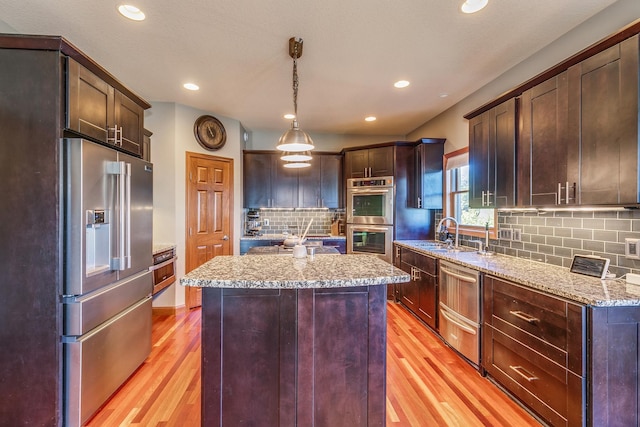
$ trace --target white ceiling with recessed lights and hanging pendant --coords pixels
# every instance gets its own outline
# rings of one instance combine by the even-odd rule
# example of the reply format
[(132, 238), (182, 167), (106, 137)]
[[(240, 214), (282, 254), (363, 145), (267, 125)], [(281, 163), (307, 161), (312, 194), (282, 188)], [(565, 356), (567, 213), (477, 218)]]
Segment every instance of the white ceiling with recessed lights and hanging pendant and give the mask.
[[(117, 0), (0, 0), (0, 19), (18, 33), (65, 37), (147, 101), (249, 130), (289, 126), (288, 40), (301, 37), (300, 127), (368, 135), (413, 131), (615, 2), (490, 0), (465, 15), (463, 0), (128, 1), (145, 21), (122, 18)], [(395, 89), (399, 79), (411, 85)]]

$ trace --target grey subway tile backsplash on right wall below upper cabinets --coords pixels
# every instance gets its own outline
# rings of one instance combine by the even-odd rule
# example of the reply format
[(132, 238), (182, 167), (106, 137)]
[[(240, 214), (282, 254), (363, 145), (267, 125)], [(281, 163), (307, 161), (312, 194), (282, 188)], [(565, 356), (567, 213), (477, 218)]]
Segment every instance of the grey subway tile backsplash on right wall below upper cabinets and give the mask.
[[(441, 213), (436, 220), (442, 217)], [(625, 258), (625, 238), (640, 238), (640, 210), (498, 212), (499, 229), (520, 230), (521, 240), (492, 239), (490, 250), (570, 267), (574, 255), (610, 259), (609, 271), (618, 277), (640, 273), (640, 260)], [(474, 246), (477, 237), (460, 236)]]

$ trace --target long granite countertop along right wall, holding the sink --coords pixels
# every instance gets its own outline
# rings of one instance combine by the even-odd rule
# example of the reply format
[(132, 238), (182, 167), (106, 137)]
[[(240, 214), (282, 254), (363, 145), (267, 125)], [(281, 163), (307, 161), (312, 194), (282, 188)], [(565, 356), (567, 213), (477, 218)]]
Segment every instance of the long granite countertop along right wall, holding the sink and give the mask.
[(568, 268), (508, 255), (479, 255), (472, 248), (460, 252), (430, 250), (424, 240), (394, 243), (512, 282), (593, 306), (640, 306), (640, 286), (571, 273)]

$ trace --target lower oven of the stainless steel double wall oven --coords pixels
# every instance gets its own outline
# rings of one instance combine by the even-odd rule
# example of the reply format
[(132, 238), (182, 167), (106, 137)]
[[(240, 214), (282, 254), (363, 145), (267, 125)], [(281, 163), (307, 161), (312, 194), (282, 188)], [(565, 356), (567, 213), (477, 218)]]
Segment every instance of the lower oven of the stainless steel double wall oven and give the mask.
[(378, 255), (391, 263), (392, 225), (347, 224), (347, 253)]

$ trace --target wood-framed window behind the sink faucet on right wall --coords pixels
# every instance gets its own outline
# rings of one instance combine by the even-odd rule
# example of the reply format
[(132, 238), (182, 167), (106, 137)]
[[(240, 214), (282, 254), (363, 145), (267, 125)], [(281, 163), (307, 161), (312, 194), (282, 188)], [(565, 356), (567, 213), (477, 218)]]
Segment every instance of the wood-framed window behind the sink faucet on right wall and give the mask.
[(445, 154), (445, 204), (443, 216), (459, 222), (460, 234), (484, 237), (485, 227), (496, 238), (496, 210), (469, 207), (469, 148)]

